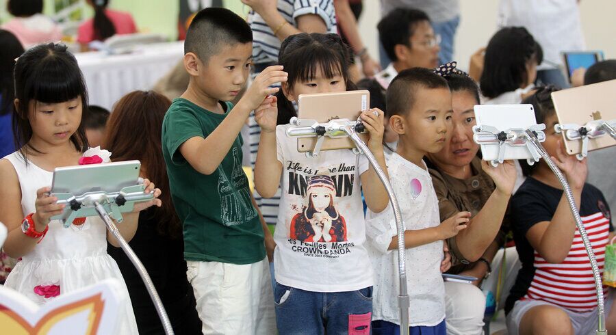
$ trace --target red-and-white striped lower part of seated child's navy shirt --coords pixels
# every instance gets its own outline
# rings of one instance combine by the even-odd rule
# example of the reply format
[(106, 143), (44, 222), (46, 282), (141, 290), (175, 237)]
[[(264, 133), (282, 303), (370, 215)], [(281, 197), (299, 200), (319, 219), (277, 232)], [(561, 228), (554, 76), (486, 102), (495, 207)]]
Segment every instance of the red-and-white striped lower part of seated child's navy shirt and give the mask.
[[(601, 213), (582, 217), (588, 238), (603, 273), (605, 246), (609, 239), (609, 220)], [(548, 263), (535, 251), (535, 276), (522, 299), (543, 300), (576, 312), (597, 306), (595, 280), (582, 237), (576, 228), (571, 250), (562, 263)]]

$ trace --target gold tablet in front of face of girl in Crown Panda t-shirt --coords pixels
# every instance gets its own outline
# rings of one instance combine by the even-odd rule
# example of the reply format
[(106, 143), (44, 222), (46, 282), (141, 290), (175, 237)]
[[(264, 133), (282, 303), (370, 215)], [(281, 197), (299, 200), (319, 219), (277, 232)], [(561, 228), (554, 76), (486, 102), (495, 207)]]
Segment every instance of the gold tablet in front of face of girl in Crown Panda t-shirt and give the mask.
[[(299, 119), (316, 120), (319, 123), (333, 119), (357, 120), (362, 111), (370, 109), (370, 92), (368, 90), (337, 93), (300, 94), (298, 98)], [(368, 134), (359, 137), (366, 142)], [(317, 142), (317, 137), (299, 137), (298, 152), (310, 152)], [(321, 150), (351, 149), (355, 143), (348, 137), (330, 138), (325, 136)]]

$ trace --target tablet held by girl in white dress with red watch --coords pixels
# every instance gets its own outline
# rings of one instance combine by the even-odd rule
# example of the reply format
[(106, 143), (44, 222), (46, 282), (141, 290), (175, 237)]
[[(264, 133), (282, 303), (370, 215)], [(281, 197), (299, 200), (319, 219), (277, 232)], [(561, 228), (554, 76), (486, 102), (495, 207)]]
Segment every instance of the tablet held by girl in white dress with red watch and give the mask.
[[(105, 191), (114, 193), (125, 187), (139, 185), (140, 161), (120, 161), (103, 164), (56, 167), (53, 170), (51, 196), (58, 198), (58, 204), (68, 204), (68, 199), (87, 192)], [(143, 189), (142, 189), (143, 190)], [(121, 212), (133, 210), (133, 202), (120, 207)], [(64, 207), (64, 213), (51, 219), (66, 219), (71, 211)], [(94, 208), (79, 209), (80, 217), (96, 216)]]

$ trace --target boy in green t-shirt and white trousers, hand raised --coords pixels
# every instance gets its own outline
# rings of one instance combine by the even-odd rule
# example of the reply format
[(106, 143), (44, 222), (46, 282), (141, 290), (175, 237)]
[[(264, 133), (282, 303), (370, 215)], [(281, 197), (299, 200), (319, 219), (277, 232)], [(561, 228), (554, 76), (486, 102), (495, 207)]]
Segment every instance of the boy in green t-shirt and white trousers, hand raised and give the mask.
[(252, 48), (251, 28), (240, 16), (223, 8), (198, 12), (184, 42), (190, 83), (173, 100), (162, 127), (188, 280), (204, 334), (275, 332), (266, 257), (274, 242), (242, 170), (239, 134), (253, 109), (276, 107), (269, 95), (279, 89), (269, 87), (286, 81), (287, 73), (282, 66), (266, 68), (233, 107), (226, 101), (246, 83)]

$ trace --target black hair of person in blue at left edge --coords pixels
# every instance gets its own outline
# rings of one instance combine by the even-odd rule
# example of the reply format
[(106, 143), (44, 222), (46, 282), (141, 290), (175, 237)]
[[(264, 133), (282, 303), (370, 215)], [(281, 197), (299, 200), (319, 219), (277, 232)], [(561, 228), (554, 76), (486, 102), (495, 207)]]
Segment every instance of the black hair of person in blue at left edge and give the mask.
[(23, 53), (21, 42), (10, 32), (0, 29), (0, 115), (13, 112), (15, 59)]

